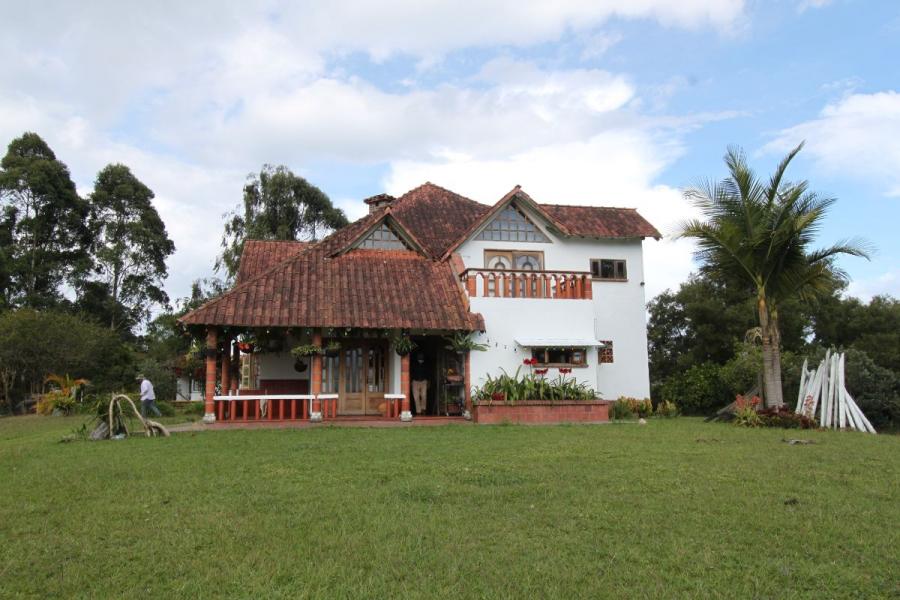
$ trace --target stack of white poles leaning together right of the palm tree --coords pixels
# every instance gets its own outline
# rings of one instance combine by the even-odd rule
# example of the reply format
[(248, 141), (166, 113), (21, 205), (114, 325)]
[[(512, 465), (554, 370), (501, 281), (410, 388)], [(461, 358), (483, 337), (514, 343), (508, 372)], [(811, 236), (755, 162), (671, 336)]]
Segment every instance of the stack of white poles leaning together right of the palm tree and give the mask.
[(807, 369), (807, 361), (803, 361), (794, 412), (816, 419), (821, 427), (875, 433), (844, 386), (844, 355), (832, 354), (831, 350), (812, 371)]

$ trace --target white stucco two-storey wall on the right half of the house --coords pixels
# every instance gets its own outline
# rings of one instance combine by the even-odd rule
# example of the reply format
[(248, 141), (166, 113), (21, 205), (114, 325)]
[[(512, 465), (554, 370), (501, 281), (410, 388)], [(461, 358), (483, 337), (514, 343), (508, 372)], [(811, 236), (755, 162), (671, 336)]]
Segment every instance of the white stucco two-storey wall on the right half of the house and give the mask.
[(550, 243), (469, 240), (459, 249), (465, 265), (484, 268), (485, 250), (541, 251), (544, 269), (551, 271), (590, 271), (592, 258), (624, 259), (628, 281), (594, 281), (592, 301), (472, 298), (472, 311), (480, 312), (485, 320), (486, 332), (481, 339), (491, 346), (488, 352), (472, 355), (472, 385), (480, 385), (486, 374), (499, 374), (501, 367), (513, 373), (530, 356), (515, 343), (517, 335), (593, 336), (613, 342), (614, 362), (598, 365), (596, 350), (591, 350), (588, 367), (575, 368), (572, 375), (579, 381), (589, 381), (606, 399), (649, 397), (642, 241), (563, 239), (542, 227), (540, 217), (528, 216), (542, 228)]

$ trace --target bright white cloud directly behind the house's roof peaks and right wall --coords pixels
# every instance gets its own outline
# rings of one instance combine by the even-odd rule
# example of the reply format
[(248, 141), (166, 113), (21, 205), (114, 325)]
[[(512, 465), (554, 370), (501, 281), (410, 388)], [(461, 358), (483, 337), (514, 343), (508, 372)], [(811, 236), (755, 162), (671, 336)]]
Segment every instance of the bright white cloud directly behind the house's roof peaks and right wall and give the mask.
[[(495, 160), (451, 156), (435, 161), (397, 161), (385, 181), (399, 194), (432, 181), (492, 204), (513, 185), (536, 201), (557, 204), (634, 207), (664, 235), (694, 209), (674, 188), (656, 185), (660, 171), (680, 150), (640, 131), (611, 131), (587, 141), (553, 144)], [(645, 280), (649, 300), (677, 287), (694, 269), (687, 240), (645, 242)]]

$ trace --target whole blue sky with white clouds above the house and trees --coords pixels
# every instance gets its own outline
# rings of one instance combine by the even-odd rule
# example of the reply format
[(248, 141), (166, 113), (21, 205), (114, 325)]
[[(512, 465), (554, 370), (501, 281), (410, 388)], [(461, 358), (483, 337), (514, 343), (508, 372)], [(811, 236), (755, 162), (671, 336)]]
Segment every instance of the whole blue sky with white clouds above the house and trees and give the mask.
[[(213, 275), (248, 174), (283, 164), (349, 217), (431, 181), (493, 204), (636, 207), (648, 299), (692, 270), (682, 195), (742, 147), (838, 202), (818, 245), (848, 293), (900, 297), (895, 0), (0, 0), (0, 144), (40, 134), (82, 194), (120, 162), (176, 245), (170, 297)], [(549, 265), (548, 265), (549, 266)]]

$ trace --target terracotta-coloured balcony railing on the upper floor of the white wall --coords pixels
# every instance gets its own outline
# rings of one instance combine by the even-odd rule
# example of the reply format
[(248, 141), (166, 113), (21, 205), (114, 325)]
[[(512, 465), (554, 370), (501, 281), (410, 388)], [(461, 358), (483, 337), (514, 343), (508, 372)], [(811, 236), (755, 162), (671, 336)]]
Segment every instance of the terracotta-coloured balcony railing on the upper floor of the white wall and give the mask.
[(460, 279), (470, 298), (593, 298), (587, 271), (466, 269)]

